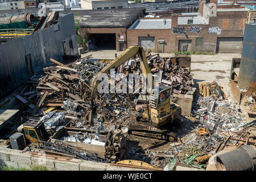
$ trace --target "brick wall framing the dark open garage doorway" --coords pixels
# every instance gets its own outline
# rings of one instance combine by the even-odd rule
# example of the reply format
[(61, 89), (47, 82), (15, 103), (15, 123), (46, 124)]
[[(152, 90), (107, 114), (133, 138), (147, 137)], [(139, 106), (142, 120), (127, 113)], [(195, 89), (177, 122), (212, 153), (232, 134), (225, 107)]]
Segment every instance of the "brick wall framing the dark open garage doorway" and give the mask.
[[(115, 34), (115, 45), (117, 51), (119, 51), (118, 40), (125, 40), (125, 49), (127, 48), (126, 42), (126, 28), (83, 28), (85, 35), (88, 34)], [(123, 36), (123, 39), (121, 39)]]

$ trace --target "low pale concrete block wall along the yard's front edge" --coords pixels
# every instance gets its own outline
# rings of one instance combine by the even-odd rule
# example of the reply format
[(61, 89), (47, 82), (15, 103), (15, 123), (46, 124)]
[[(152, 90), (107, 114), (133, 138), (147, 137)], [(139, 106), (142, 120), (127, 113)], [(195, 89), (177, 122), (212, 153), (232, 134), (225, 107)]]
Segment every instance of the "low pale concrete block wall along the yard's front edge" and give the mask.
[(142, 169), (111, 166), (108, 163), (97, 163), (80, 159), (53, 158), (52, 156), (32, 155), (30, 152), (12, 150), (0, 147), (0, 164), (15, 168), (30, 168), (31, 166), (45, 166), (57, 171), (138, 171)]

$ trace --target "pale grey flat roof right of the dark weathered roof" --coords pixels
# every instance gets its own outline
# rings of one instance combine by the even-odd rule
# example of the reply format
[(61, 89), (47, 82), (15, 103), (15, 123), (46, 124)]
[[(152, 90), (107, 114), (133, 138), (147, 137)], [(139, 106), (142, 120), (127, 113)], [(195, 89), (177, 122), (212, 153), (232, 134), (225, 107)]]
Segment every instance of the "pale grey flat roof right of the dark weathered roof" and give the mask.
[(171, 29), (172, 19), (137, 19), (129, 29)]

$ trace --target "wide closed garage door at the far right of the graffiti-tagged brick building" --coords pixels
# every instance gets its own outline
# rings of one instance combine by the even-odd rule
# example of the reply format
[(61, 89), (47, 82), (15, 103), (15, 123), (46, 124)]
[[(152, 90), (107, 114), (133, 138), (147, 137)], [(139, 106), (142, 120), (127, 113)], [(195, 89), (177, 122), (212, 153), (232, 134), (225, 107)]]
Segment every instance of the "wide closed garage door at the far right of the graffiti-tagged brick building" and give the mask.
[(243, 38), (218, 38), (217, 39), (217, 53), (230, 53), (242, 51)]

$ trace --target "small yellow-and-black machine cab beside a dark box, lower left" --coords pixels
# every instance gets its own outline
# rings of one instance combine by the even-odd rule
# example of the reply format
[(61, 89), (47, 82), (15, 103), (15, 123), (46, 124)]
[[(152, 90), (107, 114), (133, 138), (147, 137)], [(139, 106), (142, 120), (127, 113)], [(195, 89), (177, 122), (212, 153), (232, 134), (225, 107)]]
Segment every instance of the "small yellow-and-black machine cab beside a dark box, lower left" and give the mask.
[(23, 124), (23, 130), (25, 137), (30, 140), (31, 143), (36, 143), (39, 140), (48, 140), (48, 135), (43, 122), (30, 119)]

